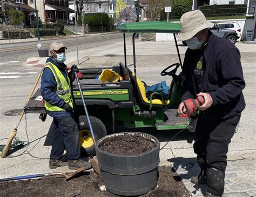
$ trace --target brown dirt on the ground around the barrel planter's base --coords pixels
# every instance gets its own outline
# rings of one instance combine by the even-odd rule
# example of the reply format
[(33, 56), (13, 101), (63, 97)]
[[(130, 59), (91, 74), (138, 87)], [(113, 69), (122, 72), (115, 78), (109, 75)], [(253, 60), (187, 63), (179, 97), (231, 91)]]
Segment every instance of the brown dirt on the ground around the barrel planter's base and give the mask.
[[(179, 176), (170, 166), (158, 168), (157, 186), (142, 196), (190, 196)], [(117, 196), (108, 191), (100, 191), (100, 175), (93, 171), (84, 172), (79, 177), (66, 181), (65, 178), (51, 176), (39, 179), (0, 182), (0, 196)]]

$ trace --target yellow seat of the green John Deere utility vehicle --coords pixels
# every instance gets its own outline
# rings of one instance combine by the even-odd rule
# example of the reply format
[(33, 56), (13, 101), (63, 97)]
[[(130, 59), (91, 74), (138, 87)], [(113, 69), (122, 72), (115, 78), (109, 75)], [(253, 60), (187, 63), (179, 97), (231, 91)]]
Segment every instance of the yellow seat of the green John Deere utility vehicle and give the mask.
[[(127, 68), (127, 70), (130, 73), (131, 76), (131, 80), (134, 82), (135, 78), (134, 78), (134, 73)], [(144, 84), (142, 83), (142, 81), (137, 77), (137, 90), (138, 90), (138, 94), (139, 94), (139, 98), (140, 100), (146, 105), (149, 106), (150, 105), (150, 100), (147, 99), (146, 97), (146, 89)], [(165, 100), (165, 104), (169, 105), (170, 104), (170, 100)], [(153, 106), (159, 106), (159, 105), (165, 105), (164, 104), (164, 100), (160, 100), (160, 99), (152, 99), (152, 105)]]

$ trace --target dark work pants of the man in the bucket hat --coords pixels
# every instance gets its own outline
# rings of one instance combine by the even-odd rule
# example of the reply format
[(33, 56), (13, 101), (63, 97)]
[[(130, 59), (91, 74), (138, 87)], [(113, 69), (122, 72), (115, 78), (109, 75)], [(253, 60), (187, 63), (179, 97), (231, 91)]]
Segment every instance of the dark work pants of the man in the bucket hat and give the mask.
[[(203, 165), (200, 165), (201, 168), (205, 168), (206, 171), (207, 168), (215, 168), (225, 174), (228, 144), (231, 142), (239, 119), (240, 116), (227, 120), (208, 120), (203, 114), (199, 114), (194, 153), (197, 154), (199, 165), (204, 161)], [(209, 190), (207, 187), (207, 191)]]

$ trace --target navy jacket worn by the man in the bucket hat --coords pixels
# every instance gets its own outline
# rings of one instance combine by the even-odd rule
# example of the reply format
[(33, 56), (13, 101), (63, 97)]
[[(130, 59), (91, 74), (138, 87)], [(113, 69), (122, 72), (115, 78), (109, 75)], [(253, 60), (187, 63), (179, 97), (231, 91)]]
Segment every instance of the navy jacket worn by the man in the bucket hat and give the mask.
[[(204, 50), (205, 74), (201, 92), (209, 93), (213, 105), (203, 114), (208, 119), (228, 119), (239, 116), (245, 108), (242, 90), (245, 80), (240, 62), (240, 52), (230, 41), (213, 35), (208, 31), (208, 46)], [(192, 69), (194, 52), (187, 49), (185, 53), (183, 74), (186, 79), (183, 83), (185, 93), (182, 100), (193, 98)]]

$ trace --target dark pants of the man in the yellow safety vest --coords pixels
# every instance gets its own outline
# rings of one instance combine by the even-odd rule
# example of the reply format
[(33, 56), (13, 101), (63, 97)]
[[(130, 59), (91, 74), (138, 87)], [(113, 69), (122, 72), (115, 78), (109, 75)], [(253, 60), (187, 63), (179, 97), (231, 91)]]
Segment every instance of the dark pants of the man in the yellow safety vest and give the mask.
[(66, 150), (69, 159), (79, 159), (79, 130), (76, 121), (71, 116), (53, 118), (53, 130), (50, 158), (60, 160)]

